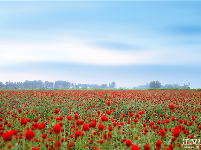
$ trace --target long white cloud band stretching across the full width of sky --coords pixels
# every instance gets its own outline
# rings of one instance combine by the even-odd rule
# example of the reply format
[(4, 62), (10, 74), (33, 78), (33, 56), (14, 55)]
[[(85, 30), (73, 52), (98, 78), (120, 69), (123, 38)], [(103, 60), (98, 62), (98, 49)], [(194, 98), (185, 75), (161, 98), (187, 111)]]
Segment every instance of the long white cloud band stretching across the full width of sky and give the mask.
[(198, 55), (181, 49), (114, 51), (77, 37), (50, 43), (0, 41), (0, 66), (27, 62), (71, 62), (118, 66), (137, 64), (186, 64), (200, 62)]

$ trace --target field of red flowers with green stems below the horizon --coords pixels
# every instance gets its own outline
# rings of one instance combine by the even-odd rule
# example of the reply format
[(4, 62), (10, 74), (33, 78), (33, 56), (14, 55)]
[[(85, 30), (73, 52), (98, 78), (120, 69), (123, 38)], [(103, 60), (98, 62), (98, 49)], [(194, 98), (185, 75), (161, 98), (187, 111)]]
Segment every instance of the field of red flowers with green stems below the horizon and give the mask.
[(201, 149), (200, 133), (201, 91), (0, 91), (0, 149)]

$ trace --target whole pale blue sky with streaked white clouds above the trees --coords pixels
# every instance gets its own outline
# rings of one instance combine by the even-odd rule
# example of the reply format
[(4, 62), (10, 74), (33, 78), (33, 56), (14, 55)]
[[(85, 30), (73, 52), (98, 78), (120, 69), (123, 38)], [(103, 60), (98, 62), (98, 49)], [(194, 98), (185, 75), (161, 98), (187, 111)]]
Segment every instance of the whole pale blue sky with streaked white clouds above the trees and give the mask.
[(201, 88), (200, 1), (0, 1), (0, 81)]

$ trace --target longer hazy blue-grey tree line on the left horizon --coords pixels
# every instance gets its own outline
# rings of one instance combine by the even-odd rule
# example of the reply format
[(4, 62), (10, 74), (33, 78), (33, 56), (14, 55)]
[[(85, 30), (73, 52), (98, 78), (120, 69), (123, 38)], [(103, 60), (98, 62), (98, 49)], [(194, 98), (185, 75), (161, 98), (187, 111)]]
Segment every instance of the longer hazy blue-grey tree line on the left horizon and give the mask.
[(107, 84), (81, 84), (81, 83), (71, 83), (68, 81), (41, 81), (41, 80), (34, 80), (25, 82), (0, 82), (0, 89), (115, 89), (116, 83), (113, 81)]

